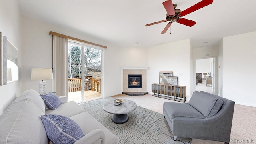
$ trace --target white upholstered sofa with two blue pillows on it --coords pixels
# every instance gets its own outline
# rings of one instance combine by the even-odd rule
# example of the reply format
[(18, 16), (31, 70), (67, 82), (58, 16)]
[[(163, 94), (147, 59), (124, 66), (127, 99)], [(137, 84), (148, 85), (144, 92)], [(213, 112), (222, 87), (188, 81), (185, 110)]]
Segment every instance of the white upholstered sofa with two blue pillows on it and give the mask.
[(41, 115), (58, 114), (74, 120), (85, 134), (75, 144), (117, 144), (117, 137), (76, 102), (67, 102), (52, 110), (35, 90), (17, 97), (0, 117), (1, 144), (49, 144)]

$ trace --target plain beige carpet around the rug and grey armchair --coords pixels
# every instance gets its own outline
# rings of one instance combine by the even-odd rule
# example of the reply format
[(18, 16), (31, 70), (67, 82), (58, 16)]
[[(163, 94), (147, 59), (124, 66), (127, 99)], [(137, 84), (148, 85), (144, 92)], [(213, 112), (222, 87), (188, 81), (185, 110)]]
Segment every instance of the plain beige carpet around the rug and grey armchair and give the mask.
[[(163, 114), (164, 102), (176, 102), (174, 100), (167, 100), (146, 94), (144, 96), (128, 96), (119, 94), (113, 96), (114, 98), (128, 99), (136, 102), (138, 106), (153, 110)], [(251, 144), (256, 144), (256, 108), (251, 106), (243, 106), (235, 104), (234, 116), (232, 122), (232, 130), (230, 136), (230, 143), (234, 141), (254, 140)], [(193, 139), (193, 144), (223, 144), (223, 142), (215, 142), (210, 140)], [(238, 142), (236, 142), (238, 143)], [(240, 142), (241, 144), (244, 142)]]

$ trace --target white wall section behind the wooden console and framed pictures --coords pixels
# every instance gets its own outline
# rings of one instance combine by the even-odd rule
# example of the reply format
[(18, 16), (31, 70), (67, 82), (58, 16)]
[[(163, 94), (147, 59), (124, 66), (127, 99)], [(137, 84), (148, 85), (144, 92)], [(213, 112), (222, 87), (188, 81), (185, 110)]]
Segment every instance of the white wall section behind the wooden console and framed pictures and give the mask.
[(178, 76), (178, 85), (186, 86), (186, 99), (189, 100), (190, 51), (189, 39), (148, 48), (147, 91), (151, 92), (151, 84), (159, 83), (160, 71), (172, 71)]

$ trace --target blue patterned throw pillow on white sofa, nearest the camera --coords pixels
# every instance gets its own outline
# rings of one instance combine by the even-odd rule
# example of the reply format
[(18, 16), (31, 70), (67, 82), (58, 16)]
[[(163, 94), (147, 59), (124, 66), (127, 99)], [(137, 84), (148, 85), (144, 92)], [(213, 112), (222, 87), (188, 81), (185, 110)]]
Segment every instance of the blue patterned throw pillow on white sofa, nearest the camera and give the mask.
[(42, 115), (47, 136), (54, 144), (73, 144), (84, 136), (81, 128), (66, 116), (48, 114)]

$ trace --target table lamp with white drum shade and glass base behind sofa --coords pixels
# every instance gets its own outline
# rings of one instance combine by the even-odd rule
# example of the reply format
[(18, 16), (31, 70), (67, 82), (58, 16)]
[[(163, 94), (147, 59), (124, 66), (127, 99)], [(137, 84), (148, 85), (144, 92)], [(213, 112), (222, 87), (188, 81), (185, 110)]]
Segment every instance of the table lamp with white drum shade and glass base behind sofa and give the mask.
[(31, 80), (42, 80), (39, 82), (39, 94), (46, 93), (46, 81), (52, 79), (52, 68), (32, 68)]

